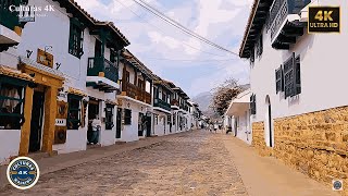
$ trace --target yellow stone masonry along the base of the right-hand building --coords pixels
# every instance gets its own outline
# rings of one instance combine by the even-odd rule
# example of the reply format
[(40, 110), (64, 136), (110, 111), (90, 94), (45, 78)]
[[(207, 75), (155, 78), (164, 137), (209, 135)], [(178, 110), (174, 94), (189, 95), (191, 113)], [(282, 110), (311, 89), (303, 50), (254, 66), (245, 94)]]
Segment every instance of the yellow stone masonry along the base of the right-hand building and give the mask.
[[(260, 126), (254, 138), (262, 149)], [(331, 187), (334, 179), (344, 180), (348, 196), (348, 107), (277, 119), (274, 140), (277, 159)]]

